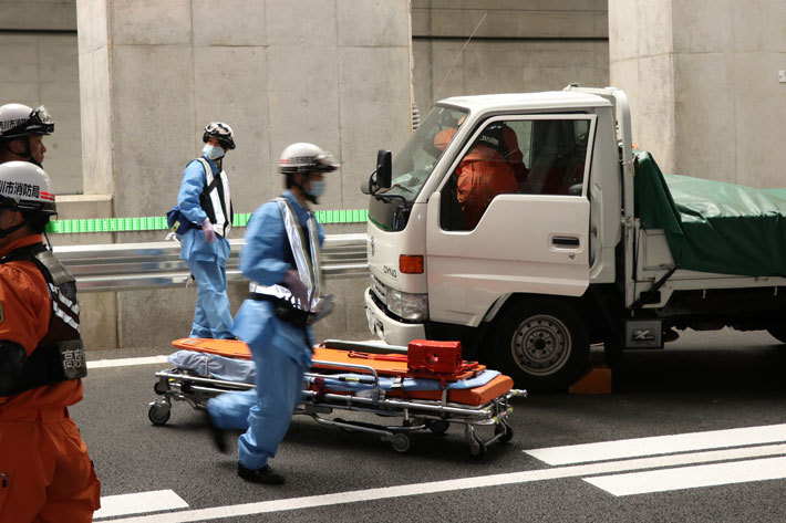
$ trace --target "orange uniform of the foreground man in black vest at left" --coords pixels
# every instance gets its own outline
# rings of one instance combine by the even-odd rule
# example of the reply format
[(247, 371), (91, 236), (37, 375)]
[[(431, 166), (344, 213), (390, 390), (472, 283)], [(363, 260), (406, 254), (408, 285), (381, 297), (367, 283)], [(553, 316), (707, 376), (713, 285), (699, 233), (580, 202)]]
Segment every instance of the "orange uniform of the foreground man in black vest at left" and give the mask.
[[(42, 242), (41, 234), (21, 238), (0, 250), (0, 257)], [(21, 345), (29, 357), (52, 315), (46, 280), (33, 262), (0, 264), (0, 341)], [(1, 522), (93, 520), (101, 485), (68, 412), (81, 399), (81, 379), (0, 397)]]

